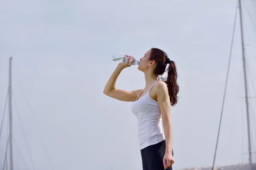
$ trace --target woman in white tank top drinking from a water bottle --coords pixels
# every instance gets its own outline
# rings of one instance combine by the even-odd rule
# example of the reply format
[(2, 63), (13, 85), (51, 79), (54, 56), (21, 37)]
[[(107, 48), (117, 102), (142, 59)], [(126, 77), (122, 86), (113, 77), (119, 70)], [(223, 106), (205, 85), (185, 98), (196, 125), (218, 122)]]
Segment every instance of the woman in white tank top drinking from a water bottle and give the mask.
[[(138, 65), (138, 70), (145, 74), (145, 88), (136, 91), (116, 89), (116, 79), (122, 69), (131, 66), (128, 63), (118, 64), (103, 93), (118, 100), (134, 102), (131, 110), (138, 119), (143, 170), (172, 170), (171, 105), (177, 103), (179, 92), (175, 62), (164, 51), (151, 48)], [(158, 77), (167, 71), (167, 64), (168, 77), (159, 81)]]

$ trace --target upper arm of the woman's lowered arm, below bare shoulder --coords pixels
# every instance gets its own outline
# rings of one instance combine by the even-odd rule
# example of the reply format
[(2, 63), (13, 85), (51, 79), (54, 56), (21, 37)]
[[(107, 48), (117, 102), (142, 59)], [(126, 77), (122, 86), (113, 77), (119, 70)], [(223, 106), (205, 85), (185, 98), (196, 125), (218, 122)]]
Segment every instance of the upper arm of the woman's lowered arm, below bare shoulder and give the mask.
[(157, 102), (160, 107), (163, 123), (171, 120), (171, 102), (166, 83), (157, 83)]

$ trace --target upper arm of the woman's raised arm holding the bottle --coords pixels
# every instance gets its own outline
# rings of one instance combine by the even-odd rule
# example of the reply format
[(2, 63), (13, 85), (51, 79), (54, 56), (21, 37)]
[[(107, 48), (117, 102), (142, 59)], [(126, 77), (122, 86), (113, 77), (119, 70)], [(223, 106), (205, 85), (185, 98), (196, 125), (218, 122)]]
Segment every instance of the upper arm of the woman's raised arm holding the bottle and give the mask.
[(135, 91), (126, 91), (126, 90), (122, 90), (122, 89), (113, 89), (110, 92), (108, 92), (108, 94), (106, 94), (106, 95), (110, 96), (114, 99), (121, 100), (121, 101), (134, 102), (137, 99), (138, 95), (140, 94), (140, 91), (142, 91), (142, 89), (135, 90)]

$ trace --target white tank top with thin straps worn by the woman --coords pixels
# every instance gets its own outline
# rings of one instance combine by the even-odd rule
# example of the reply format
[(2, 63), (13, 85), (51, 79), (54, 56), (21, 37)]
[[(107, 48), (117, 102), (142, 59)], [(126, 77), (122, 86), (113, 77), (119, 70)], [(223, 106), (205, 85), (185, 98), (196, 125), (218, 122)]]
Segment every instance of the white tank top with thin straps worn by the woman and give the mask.
[[(155, 82), (154, 85), (157, 82)], [(152, 85), (152, 87), (154, 85)], [(132, 112), (138, 119), (140, 150), (150, 145), (157, 144), (165, 139), (163, 134), (162, 116), (158, 102), (149, 96), (151, 88), (146, 94), (138, 99), (144, 90), (143, 89), (131, 106)]]

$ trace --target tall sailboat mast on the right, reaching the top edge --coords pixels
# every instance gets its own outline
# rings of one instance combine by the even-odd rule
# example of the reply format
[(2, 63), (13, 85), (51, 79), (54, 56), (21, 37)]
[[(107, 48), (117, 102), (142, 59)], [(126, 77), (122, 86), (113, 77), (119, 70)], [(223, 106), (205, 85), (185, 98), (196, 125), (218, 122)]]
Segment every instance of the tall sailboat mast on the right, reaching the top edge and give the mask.
[(238, 2), (239, 2), (240, 30), (241, 30), (242, 57), (243, 57), (242, 59), (243, 59), (243, 68), (244, 68), (244, 88), (245, 88), (245, 104), (246, 104), (246, 116), (247, 116), (248, 151), (249, 151), (250, 167), (251, 167), (251, 170), (253, 170), (252, 151), (251, 151), (251, 142), (250, 142), (250, 118), (249, 118), (249, 102), (248, 102), (248, 91), (247, 91), (246, 62), (245, 62), (245, 54), (244, 54), (243, 17), (242, 17), (241, 0), (238, 0)]

